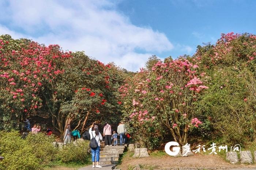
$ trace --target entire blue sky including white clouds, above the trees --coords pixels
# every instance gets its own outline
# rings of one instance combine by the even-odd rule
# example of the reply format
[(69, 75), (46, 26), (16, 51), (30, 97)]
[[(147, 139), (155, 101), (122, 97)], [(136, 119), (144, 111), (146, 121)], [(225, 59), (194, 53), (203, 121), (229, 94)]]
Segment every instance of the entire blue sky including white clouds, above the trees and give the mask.
[(193, 55), (221, 33), (256, 34), (255, 7), (255, 0), (3, 0), (0, 34), (137, 71), (151, 55)]

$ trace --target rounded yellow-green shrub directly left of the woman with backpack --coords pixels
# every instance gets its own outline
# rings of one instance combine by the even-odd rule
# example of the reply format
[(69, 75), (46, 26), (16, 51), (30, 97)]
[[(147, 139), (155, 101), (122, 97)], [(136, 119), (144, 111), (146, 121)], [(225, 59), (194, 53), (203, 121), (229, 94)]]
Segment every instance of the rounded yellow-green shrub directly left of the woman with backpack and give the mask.
[(59, 158), (64, 163), (87, 163), (90, 159), (89, 149), (89, 141), (77, 142), (76, 145), (71, 143), (60, 149)]

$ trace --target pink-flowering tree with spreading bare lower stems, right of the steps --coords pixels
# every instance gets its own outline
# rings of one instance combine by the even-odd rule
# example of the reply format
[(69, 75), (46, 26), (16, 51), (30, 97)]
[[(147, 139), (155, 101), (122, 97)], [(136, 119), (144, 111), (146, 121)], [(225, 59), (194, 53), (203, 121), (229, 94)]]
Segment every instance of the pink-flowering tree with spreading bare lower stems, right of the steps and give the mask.
[(159, 61), (149, 72), (142, 69), (135, 80), (129, 80), (136, 82), (134, 85), (127, 82), (120, 88), (128, 112), (125, 116), (140, 124), (157, 120), (176, 142), (185, 145), (188, 130), (202, 123), (193, 116), (193, 102), (208, 88), (203, 86), (200, 78), (204, 74), (199, 75), (197, 68), (180, 58)]

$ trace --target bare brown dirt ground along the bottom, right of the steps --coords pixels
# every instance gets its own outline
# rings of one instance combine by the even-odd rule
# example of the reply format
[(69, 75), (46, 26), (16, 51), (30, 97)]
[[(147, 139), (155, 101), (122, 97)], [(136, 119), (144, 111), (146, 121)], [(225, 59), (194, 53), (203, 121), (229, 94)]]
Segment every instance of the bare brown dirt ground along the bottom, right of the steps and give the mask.
[[(118, 167), (121, 170), (128, 170), (136, 165), (142, 165), (145, 169), (165, 169), (175, 167), (204, 167), (208, 168), (256, 168), (256, 165), (232, 165), (229, 162), (223, 161), (222, 158), (216, 155), (194, 155), (190, 157), (169, 157), (163, 156), (161, 158), (148, 157), (148, 158), (131, 158), (125, 157), (121, 165)], [(208, 168), (207, 168), (208, 167)]]

